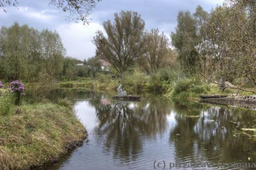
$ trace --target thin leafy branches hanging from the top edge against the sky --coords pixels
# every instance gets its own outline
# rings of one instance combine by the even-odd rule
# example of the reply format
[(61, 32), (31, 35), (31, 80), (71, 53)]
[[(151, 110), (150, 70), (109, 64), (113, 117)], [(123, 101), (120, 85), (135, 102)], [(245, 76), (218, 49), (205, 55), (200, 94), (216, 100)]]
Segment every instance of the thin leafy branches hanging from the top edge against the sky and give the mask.
[[(93, 8), (101, 0), (48, 0), (49, 5), (55, 6), (63, 12), (69, 13), (69, 19), (81, 20), (83, 23), (89, 23), (88, 17), (91, 14)], [(0, 9), (4, 12), (5, 5), (14, 6), (18, 4), (18, 0), (0, 0)]]

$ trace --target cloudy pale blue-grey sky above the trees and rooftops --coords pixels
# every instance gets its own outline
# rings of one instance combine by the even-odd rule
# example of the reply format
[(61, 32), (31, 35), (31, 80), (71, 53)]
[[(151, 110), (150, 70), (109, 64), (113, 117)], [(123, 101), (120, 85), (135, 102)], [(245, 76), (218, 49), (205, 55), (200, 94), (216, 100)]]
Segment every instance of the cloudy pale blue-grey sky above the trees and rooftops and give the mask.
[(89, 25), (67, 20), (67, 13), (49, 6), (49, 0), (18, 0), (17, 7), (0, 10), (0, 27), (10, 27), (15, 21), (19, 25), (28, 24), (38, 30), (56, 30), (67, 50), (67, 56), (83, 60), (95, 55), (92, 43), (96, 31), (104, 32), (102, 23), (113, 20), (114, 13), (121, 10), (137, 11), (145, 21), (145, 29), (163, 31), (169, 37), (175, 31), (177, 14), (188, 10), (193, 13), (198, 5), (210, 11), (223, 0), (102, 0), (93, 9)]

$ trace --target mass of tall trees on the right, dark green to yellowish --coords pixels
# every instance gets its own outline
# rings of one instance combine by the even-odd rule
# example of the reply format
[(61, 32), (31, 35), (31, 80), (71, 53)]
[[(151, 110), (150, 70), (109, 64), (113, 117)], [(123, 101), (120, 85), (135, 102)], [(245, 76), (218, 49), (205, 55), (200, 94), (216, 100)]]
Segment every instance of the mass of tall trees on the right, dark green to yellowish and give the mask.
[(205, 82), (255, 86), (255, 17), (255, 3), (243, 0), (227, 0), (210, 13), (201, 6), (193, 15), (179, 12), (171, 38), (185, 72)]

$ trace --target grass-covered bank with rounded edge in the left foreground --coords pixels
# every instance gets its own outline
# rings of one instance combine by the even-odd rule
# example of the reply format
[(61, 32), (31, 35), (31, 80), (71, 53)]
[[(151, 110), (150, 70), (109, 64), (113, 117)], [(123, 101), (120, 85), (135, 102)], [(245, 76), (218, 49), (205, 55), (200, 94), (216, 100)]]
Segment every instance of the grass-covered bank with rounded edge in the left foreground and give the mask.
[[(3, 94), (0, 97), (2, 101), (7, 98)], [(87, 136), (65, 102), (23, 106), (2, 102), (0, 109), (0, 169), (3, 170), (29, 169), (57, 161), (82, 144)]]

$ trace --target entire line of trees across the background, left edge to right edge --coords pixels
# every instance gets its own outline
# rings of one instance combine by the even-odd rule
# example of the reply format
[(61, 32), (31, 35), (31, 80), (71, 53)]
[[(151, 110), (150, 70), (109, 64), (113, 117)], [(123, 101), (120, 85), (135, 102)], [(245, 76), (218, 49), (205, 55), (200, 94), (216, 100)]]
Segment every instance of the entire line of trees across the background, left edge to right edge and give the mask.
[[(96, 33), (96, 54), (88, 61), (64, 57), (65, 48), (56, 32), (39, 32), (17, 23), (2, 27), (0, 79), (33, 81), (42, 70), (61, 80), (95, 77), (101, 70), (98, 59), (104, 59), (116, 77), (131, 74), (134, 68), (151, 76), (170, 68), (208, 83), (256, 85), (254, 1), (226, 1), (210, 12), (201, 6), (193, 14), (180, 11), (171, 40), (158, 29), (145, 30), (137, 12), (121, 11), (114, 18), (103, 22), (105, 33)], [(86, 66), (76, 67), (79, 62)]]

